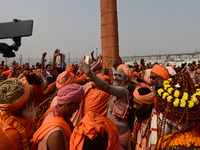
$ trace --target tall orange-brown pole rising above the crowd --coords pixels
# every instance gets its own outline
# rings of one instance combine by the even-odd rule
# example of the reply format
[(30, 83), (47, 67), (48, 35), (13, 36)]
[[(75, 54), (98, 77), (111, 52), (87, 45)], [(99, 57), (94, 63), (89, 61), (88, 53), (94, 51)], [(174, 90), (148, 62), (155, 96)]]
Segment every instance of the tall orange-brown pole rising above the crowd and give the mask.
[(109, 71), (110, 61), (119, 58), (117, 0), (101, 0), (101, 48), (103, 69)]

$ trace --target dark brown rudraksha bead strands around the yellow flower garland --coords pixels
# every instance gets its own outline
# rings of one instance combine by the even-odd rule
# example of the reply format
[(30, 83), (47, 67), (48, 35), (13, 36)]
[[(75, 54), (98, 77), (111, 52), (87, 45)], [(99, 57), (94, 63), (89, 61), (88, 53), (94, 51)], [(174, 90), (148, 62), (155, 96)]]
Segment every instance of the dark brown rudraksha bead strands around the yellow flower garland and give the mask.
[[(171, 90), (171, 101), (169, 102), (167, 101), (167, 96), (164, 96), (163, 98), (163, 94), (166, 92), (168, 89), (172, 87), (173, 90)], [(159, 133), (158, 138), (161, 138), (161, 144), (158, 146), (157, 145), (157, 149), (162, 149), (161, 145), (163, 142), (166, 142), (167, 144), (165, 144), (163, 149), (167, 149), (167, 150), (171, 150), (171, 149), (193, 149), (193, 148), (187, 148), (187, 147), (181, 147), (181, 146), (175, 146), (175, 147), (168, 147), (168, 144), (170, 142), (170, 140), (174, 137), (175, 134), (180, 133), (182, 131), (184, 131), (187, 127), (191, 126), (195, 126), (197, 124), (200, 123), (200, 104), (197, 103), (195, 104), (193, 107), (189, 108), (187, 106), (189, 106), (189, 102), (186, 100), (186, 107), (181, 107), (180, 105), (175, 106), (173, 105), (173, 102), (175, 101), (175, 90), (178, 90), (180, 95), (178, 98), (179, 99), (179, 103), (181, 101), (181, 97), (183, 97), (184, 93), (188, 94), (188, 99), (191, 98), (191, 96), (193, 94), (195, 94), (197, 91), (196, 89), (199, 88), (198, 86), (195, 86), (195, 84), (193, 83), (190, 75), (188, 72), (180, 72), (178, 73), (176, 76), (174, 76), (170, 82), (170, 86), (164, 88), (165, 91), (163, 90), (163, 92), (160, 93), (160, 96), (157, 96), (157, 101), (156, 101), (156, 107), (157, 107), (157, 111), (158, 112), (162, 112), (163, 113), (163, 118), (161, 121), (161, 132)], [(161, 90), (162, 91), (162, 90)], [(196, 95), (196, 98), (198, 99), (198, 101), (200, 102), (200, 96)], [(166, 119), (169, 119), (171, 121), (173, 121), (176, 126), (175, 126), (175, 131), (173, 132), (173, 134), (171, 136), (169, 136), (167, 139), (163, 140), (164, 137), (164, 130), (165, 130), (165, 124), (166, 124)], [(182, 125), (181, 129), (178, 129), (178, 125)]]

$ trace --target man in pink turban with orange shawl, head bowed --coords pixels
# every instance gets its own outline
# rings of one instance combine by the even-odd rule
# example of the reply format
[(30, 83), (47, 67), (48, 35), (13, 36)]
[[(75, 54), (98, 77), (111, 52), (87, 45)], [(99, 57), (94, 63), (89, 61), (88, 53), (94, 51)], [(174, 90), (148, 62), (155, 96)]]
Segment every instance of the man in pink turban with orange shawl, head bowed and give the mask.
[(58, 90), (58, 104), (48, 109), (41, 117), (38, 122), (38, 126), (41, 126), (33, 136), (38, 150), (69, 149), (69, 140), (74, 128), (70, 117), (79, 108), (83, 96), (84, 90), (78, 84), (68, 84)]

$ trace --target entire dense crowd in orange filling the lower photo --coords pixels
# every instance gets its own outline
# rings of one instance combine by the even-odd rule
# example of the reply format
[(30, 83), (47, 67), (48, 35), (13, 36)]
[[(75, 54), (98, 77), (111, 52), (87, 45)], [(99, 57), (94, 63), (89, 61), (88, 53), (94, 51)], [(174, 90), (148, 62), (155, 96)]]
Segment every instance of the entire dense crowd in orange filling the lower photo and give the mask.
[[(0, 66), (0, 149), (200, 149), (200, 65), (110, 63)], [(59, 58), (59, 62), (56, 60)]]

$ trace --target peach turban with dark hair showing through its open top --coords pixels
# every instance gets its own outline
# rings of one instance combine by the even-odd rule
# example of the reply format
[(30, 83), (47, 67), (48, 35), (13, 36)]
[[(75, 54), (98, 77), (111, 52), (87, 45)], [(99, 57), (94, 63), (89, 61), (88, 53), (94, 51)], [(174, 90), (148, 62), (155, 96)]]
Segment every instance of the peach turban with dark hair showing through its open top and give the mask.
[[(148, 94), (141, 95), (139, 93), (139, 91), (138, 91), (141, 88), (149, 89), (151, 92), (148, 93)], [(135, 88), (135, 90), (133, 92), (133, 96), (137, 100), (139, 100), (140, 102), (142, 102), (142, 103), (149, 104), (149, 105), (154, 103), (155, 94), (154, 94), (154, 92), (152, 91), (151, 88), (139, 86), (139, 87)]]

